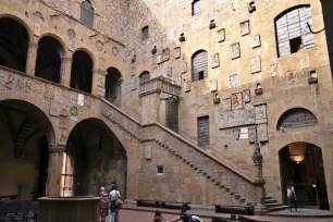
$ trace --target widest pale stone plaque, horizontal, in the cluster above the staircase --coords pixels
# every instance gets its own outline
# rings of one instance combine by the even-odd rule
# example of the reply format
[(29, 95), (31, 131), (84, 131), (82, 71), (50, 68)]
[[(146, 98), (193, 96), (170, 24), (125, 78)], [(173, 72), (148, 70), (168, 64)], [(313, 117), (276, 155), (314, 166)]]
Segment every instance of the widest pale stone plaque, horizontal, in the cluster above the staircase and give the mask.
[(255, 110), (231, 110), (219, 113), (218, 124), (219, 128), (231, 128), (242, 125), (254, 124), (255, 120)]

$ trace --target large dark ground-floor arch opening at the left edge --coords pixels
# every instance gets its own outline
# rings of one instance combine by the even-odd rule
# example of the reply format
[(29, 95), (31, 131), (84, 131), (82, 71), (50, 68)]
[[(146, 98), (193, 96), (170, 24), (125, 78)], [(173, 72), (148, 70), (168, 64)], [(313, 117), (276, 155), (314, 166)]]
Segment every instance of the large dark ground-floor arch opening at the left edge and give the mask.
[(48, 145), (55, 140), (47, 115), (26, 101), (0, 101), (0, 196), (46, 196)]

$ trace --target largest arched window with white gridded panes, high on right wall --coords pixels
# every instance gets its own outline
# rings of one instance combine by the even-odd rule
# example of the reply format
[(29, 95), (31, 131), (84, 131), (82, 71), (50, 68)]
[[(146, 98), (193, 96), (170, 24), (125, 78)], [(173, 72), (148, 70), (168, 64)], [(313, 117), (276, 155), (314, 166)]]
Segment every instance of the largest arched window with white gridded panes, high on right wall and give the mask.
[(310, 5), (292, 8), (275, 18), (279, 57), (314, 47), (313, 34), (307, 24), (312, 28)]

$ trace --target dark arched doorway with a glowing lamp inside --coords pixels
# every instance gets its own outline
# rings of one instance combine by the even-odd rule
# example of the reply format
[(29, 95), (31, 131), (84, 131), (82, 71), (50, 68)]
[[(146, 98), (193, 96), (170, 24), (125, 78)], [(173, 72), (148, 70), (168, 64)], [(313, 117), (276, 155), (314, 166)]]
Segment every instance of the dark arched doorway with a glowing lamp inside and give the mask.
[(322, 151), (309, 143), (293, 143), (279, 151), (283, 201), (293, 184), (297, 205), (305, 208), (329, 209)]

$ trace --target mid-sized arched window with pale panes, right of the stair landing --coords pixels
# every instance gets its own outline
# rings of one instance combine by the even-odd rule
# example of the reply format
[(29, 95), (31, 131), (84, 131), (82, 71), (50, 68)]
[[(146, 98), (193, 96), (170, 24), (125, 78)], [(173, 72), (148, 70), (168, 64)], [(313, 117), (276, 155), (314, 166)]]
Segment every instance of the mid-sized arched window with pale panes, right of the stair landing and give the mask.
[(199, 50), (192, 57), (192, 81), (208, 78), (207, 51)]

